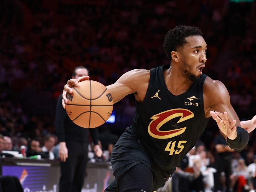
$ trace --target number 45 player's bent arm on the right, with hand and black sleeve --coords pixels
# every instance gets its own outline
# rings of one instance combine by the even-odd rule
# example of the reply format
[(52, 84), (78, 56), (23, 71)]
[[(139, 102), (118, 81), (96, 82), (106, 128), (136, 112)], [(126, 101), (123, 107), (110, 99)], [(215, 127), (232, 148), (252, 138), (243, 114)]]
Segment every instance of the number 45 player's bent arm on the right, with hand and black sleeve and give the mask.
[(230, 104), (227, 88), (223, 83), (207, 77), (204, 84), (206, 117), (212, 116), (221, 132), (227, 136), (230, 148), (242, 151), (248, 144), (249, 135), (241, 128), (240, 120)]

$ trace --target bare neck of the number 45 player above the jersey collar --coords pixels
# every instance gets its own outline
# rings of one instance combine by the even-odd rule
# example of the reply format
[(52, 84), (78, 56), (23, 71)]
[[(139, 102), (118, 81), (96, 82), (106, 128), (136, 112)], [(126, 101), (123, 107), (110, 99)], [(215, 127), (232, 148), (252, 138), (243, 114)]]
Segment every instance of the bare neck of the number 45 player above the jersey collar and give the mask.
[(193, 84), (178, 68), (170, 67), (164, 70), (164, 82), (173, 95), (180, 95)]

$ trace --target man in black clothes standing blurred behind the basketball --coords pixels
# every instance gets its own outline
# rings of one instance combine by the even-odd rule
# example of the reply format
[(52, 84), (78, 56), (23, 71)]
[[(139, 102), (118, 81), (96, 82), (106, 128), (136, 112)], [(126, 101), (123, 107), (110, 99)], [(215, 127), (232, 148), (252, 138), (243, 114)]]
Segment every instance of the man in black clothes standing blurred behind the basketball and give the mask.
[[(72, 78), (87, 76), (88, 70), (79, 66), (73, 71)], [(74, 124), (61, 106), (61, 95), (56, 107), (56, 130), (59, 140), (60, 192), (81, 192), (84, 184), (85, 168), (88, 161), (88, 133), (90, 130), (94, 152), (100, 157), (102, 150), (98, 144), (98, 128), (85, 129)]]

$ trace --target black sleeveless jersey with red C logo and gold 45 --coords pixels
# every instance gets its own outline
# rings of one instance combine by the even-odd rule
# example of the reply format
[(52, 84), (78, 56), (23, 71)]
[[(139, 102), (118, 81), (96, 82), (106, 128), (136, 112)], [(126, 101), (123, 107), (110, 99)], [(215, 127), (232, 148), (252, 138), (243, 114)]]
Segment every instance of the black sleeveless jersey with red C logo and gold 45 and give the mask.
[(204, 132), (209, 119), (205, 118), (201, 75), (187, 92), (173, 95), (164, 82), (164, 65), (150, 69), (146, 96), (136, 103), (136, 114), (130, 127), (146, 149), (153, 164), (171, 171), (177, 167)]

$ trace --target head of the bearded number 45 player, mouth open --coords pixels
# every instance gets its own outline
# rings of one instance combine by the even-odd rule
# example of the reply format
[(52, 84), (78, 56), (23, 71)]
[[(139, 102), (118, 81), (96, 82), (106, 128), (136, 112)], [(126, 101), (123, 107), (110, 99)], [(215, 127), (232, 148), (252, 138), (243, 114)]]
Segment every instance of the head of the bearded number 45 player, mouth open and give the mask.
[(206, 43), (197, 27), (178, 26), (164, 38), (164, 51), (172, 64), (180, 64), (182, 75), (191, 81), (198, 80), (206, 61)]

